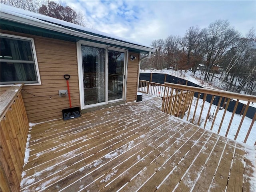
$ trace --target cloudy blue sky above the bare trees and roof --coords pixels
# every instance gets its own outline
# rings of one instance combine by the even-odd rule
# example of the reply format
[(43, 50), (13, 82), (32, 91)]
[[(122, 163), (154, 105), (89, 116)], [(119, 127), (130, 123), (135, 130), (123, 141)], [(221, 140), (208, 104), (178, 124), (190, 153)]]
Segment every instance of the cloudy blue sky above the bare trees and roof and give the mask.
[(242, 36), (256, 28), (256, 1), (246, 0), (68, 0), (92, 28), (149, 46), (168, 35), (184, 36), (190, 26), (228, 20)]

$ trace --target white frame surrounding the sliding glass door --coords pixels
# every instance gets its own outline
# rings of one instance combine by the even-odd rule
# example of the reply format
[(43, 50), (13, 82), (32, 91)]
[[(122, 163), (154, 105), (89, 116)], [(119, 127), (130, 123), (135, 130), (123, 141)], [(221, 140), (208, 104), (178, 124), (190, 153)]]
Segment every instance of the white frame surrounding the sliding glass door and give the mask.
[[(105, 87), (106, 87), (106, 102), (92, 104), (92, 105), (85, 105), (84, 103), (84, 76), (83, 76), (83, 65), (82, 65), (82, 48), (81, 46), (92, 46), (96, 48), (104, 48), (105, 49)], [(93, 108), (96, 106), (104, 106), (110, 103), (119, 102), (122, 100), (126, 100), (126, 82), (127, 82), (127, 67), (128, 67), (128, 50), (122, 49), (122, 48), (116, 48), (114, 46), (108, 46), (105, 44), (100, 43), (94, 43), (94, 42), (88, 42), (84, 40), (79, 40), (76, 42), (76, 50), (77, 50), (77, 64), (78, 64), (78, 84), (79, 84), (79, 96), (80, 96), (80, 108), (81, 109), (87, 109), (87, 108)], [(117, 50), (120, 52), (124, 52), (124, 82), (123, 82), (123, 96), (122, 99), (117, 100), (111, 100), (108, 101), (108, 50)]]

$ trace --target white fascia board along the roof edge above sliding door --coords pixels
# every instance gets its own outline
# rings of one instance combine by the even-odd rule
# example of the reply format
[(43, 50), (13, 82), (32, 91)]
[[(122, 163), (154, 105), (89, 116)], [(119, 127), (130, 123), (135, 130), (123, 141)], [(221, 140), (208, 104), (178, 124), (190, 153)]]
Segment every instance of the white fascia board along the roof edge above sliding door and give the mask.
[(73, 35), (73, 36), (77, 36), (77, 37), (81, 37), (81, 38), (87, 38), (90, 40), (99, 41), (99, 42), (110, 43), (110, 44), (114, 44), (114, 45), (118, 45), (118, 46), (125, 46), (128, 48), (134, 48), (134, 49), (138, 49), (138, 50), (142, 50), (142, 51), (146, 51), (146, 52), (155, 52), (155, 50), (152, 48), (133, 45), (133, 44), (129, 44), (126, 42), (120, 42), (118, 40), (112, 40), (112, 39), (107, 39), (107, 38), (102, 38), (102, 37), (86, 34), (83, 32), (79, 32), (79, 31), (75, 31), (72, 29), (64, 28), (62, 26), (58, 26), (56, 24), (48, 23), (48, 22), (30, 17), (30, 16), (24, 16), (24, 15), (18, 14), (18, 13), (15, 13), (15, 15), (14, 15), (14, 14), (9, 14), (9, 13), (5, 13), (5, 12), (1, 11), (0, 15), (1, 15), (1, 18), (5, 19), (5, 20), (10, 20), (13, 22), (27, 24), (30, 26), (44, 28), (44, 29), (48, 29), (48, 30), (52, 30), (52, 31), (56, 31), (56, 32), (64, 33), (64, 34), (69, 34), (69, 35)]

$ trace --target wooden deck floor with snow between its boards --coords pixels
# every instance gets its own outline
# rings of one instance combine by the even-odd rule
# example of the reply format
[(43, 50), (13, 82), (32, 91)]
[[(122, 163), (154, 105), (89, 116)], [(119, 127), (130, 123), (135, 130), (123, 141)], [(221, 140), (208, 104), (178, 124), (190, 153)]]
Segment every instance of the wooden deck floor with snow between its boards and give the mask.
[[(131, 102), (37, 124), (21, 191), (230, 191), (256, 188), (256, 150)], [(255, 187), (255, 188), (253, 188)]]

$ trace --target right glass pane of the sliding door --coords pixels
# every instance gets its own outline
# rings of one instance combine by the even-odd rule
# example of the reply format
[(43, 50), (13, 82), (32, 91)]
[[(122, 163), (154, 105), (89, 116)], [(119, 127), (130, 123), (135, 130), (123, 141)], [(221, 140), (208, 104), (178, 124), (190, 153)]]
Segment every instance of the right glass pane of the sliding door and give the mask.
[(123, 98), (124, 52), (108, 50), (108, 101)]

